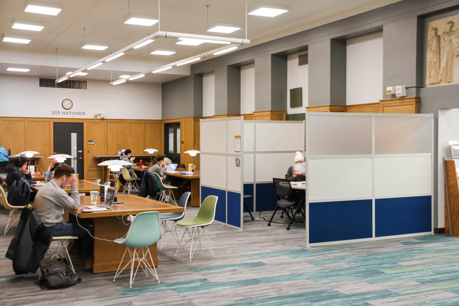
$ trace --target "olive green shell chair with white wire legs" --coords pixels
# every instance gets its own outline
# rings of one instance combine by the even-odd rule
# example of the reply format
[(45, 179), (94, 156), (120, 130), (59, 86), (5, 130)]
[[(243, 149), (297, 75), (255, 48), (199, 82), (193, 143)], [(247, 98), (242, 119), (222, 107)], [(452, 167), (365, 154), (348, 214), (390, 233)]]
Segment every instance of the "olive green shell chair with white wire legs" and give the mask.
[[(199, 208), (199, 211), (198, 211), (198, 215), (196, 215), (195, 218), (182, 219), (175, 223), (177, 227), (185, 229), (182, 235), (182, 239), (180, 240), (179, 247), (177, 248), (177, 251), (175, 252), (176, 256), (177, 256), (177, 253), (179, 253), (181, 249), (185, 248), (185, 246), (191, 241), (190, 261), (195, 255), (195, 251), (198, 247), (199, 247), (200, 253), (203, 253), (202, 245), (204, 245), (209, 250), (209, 252), (211, 252), (212, 256), (215, 257), (214, 250), (212, 250), (211, 242), (209, 241), (209, 237), (207, 236), (205, 227), (211, 225), (214, 222), (215, 209), (217, 207), (218, 200), (219, 200), (219, 197), (217, 196), (207, 196), (206, 199), (204, 199), (203, 203), (201, 204), (201, 207)], [(190, 228), (192, 229), (191, 233), (189, 230)], [(190, 236), (190, 239), (186, 243), (183, 243), (183, 238), (185, 237), (185, 233), (188, 233), (188, 235)], [(204, 237), (206, 238), (207, 241), (204, 240)], [(194, 249), (193, 249), (193, 244), (195, 244)]]

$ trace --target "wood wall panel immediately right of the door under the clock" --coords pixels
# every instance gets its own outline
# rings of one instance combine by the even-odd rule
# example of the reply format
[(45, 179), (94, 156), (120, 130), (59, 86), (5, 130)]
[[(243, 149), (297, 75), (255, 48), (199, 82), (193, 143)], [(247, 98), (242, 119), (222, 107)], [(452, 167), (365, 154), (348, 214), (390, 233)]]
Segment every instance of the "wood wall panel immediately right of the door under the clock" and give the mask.
[[(100, 160), (94, 159), (94, 156), (105, 155), (106, 145), (108, 144), (105, 140), (106, 128), (105, 122), (84, 122), (85, 137), (84, 137), (84, 168), (85, 168), (85, 179), (95, 180), (104, 179), (102, 177), (103, 169), (102, 166), (97, 166)], [(89, 140), (94, 140), (94, 144), (88, 144)]]

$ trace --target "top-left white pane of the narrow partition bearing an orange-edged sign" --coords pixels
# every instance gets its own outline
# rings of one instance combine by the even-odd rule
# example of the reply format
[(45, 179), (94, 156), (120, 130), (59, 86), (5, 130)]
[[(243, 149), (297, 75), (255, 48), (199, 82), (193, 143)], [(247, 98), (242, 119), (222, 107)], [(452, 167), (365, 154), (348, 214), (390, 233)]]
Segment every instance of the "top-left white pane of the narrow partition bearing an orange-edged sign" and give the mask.
[(201, 121), (201, 152), (226, 153), (227, 121)]

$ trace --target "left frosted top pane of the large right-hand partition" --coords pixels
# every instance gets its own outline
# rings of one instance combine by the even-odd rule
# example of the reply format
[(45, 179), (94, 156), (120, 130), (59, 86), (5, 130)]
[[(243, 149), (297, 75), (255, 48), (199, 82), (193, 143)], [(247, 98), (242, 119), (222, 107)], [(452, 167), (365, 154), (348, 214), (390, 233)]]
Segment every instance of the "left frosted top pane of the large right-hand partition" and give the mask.
[(309, 155), (371, 154), (371, 116), (308, 117)]

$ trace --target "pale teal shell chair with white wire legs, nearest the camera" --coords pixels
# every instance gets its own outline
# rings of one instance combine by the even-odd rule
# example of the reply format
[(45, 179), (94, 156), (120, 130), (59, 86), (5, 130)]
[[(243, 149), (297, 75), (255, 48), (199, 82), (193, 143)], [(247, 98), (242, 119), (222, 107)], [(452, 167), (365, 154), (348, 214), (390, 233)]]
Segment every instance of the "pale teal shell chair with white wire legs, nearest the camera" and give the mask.
[[(134, 221), (131, 223), (131, 227), (129, 228), (126, 238), (115, 239), (115, 243), (124, 244), (126, 246), (126, 251), (124, 251), (123, 258), (121, 259), (113, 281), (116, 280), (118, 275), (120, 275), (120, 273), (123, 272), (128, 265), (131, 265), (131, 278), (129, 281), (129, 288), (132, 288), (132, 283), (134, 283), (134, 279), (137, 275), (137, 270), (139, 270), (139, 267), (142, 268), (142, 270), (145, 272), (145, 275), (148, 275), (148, 272), (150, 272), (159, 284), (159, 277), (158, 273), (156, 273), (155, 266), (153, 265), (150, 267), (148, 263), (148, 259), (150, 259), (150, 261), (153, 263), (153, 258), (148, 247), (157, 243), (160, 239), (161, 229), (159, 213), (145, 212), (138, 214)], [(131, 260), (126, 265), (124, 265), (123, 269), (120, 270), (126, 253), (129, 254)], [(138, 262), (138, 265), (136, 272), (134, 273), (135, 262)]]

